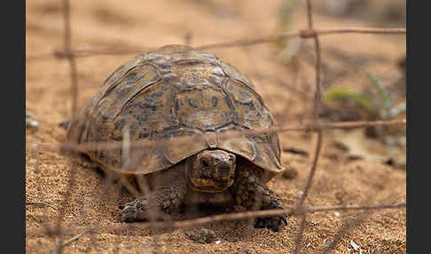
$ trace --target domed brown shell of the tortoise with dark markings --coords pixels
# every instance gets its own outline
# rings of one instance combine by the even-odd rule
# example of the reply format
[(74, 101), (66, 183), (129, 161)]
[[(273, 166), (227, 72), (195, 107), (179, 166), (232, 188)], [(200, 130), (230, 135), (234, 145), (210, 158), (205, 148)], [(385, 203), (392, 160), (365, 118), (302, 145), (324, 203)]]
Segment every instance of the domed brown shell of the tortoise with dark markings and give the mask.
[(207, 52), (168, 45), (138, 54), (117, 68), (70, 123), (67, 138), (86, 143), (121, 141), (126, 132), (131, 141), (205, 135), (203, 141), (187, 146), (161, 142), (134, 148), (128, 158), (122, 149), (86, 154), (104, 170), (145, 175), (218, 148), (270, 171), (271, 179), (284, 171), (276, 132), (218, 137), (229, 131), (273, 126), (263, 99), (238, 70)]

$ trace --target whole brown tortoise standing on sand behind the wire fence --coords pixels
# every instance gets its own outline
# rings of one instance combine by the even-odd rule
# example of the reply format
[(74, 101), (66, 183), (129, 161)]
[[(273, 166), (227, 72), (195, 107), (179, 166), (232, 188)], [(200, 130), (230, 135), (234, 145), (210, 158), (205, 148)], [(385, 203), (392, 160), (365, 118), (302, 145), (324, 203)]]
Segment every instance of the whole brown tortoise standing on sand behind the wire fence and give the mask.
[[(118, 67), (70, 122), (67, 139), (161, 141), (85, 152), (106, 173), (132, 176), (152, 191), (153, 199), (141, 187), (141, 195), (124, 204), (120, 220), (127, 222), (149, 220), (151, 209), (162, 217), (192, 203), (283, 209), (266, 186), (285, 170), (277, 132), (263, 130), (274, 126), (255, 86), (235, 67), (208, 52), (167, 45)], [(263, 131), (222, 139), (240, 130)], [(189, 136), (203, 138), (162, 142)], [(282, 222), (286, 215), (256, 218), (255, 227), (278, 232)]]

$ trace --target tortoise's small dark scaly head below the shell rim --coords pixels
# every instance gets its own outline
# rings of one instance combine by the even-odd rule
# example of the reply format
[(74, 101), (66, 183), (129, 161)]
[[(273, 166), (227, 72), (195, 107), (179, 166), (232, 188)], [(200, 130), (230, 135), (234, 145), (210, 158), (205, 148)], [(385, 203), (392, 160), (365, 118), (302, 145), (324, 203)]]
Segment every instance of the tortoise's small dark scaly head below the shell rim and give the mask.
[(192, 190), (222, 192), (235, 177), (235, 155), (223, 150), (204, 150), (187, 158), (186, 179)]

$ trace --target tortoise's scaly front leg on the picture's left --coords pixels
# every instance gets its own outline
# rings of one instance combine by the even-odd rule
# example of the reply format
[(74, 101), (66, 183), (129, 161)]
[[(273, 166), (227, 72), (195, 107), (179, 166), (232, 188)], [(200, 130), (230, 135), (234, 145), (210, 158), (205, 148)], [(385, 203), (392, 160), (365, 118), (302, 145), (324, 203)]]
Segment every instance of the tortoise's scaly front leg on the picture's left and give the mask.
[(152, 202), (146, 196), (128, 202), (121, 210), (121, 221), (162, 219), (184, 204), (187, 186), (184, 165), (153, 173), (149, 180)]

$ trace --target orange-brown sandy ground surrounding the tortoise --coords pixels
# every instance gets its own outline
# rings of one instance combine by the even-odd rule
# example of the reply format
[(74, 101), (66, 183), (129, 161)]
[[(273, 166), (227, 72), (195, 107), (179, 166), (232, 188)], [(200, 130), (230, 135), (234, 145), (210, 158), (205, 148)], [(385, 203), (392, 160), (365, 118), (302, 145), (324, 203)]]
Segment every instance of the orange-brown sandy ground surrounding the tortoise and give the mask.
[[(148, 48), (164, 44), (184, 44), (186, 35), (192, 45), (253, 38), (275, 33), (279, 2), (267, 1), (71, 1), (72, 45), (75, 49)], [(63, 48), (63, 18), (59, 1), (28, 1), (26, 20), (27, 57), (51, 53)], [(305, 12), (300, 4), (294, 12), (293, 28), (305, 28)], [(361, 20), (341, 20), (319, 12), (314, 20), (317, 28), (369, 26)], [(312, 44), (307, 44), (312, 48)], [(405, 55), (405, 36), (336, 35), (321, 37), (324, 63), (333, 69), (351, 73), (335, 79), (334, 84), (361, 89), (367, 83), (364, 74), (340, 57), (325, 49), (367, 59), (359, 70), (371, 71), (382, 77), (396, 76), (396, 63)], [(247, 48), (211, 49), (220, 59), (230, 62), (247, 75), (263, 96), (278, 123), (298, 123), (310, 117), (311, 100), (304, 98), (278, 83), (293, 84), (292, 67), (280, 64), (274, 54), (274, 45), (261, 44)], [(78, 107), (85, 105), (92, 92), (116, 67), (132, 55), (110, 55), (78, 58)], [(314, 72), (310, 62), (300, 58), (300, 73), (296, 87), (312, 91)], [(70, 116), (71, 92), (69, 66), (66, 60), (27, 60), (27, 110), (40, 123), (38, 128), (27, 128), (26, 200), (46, 202), (59, 208), (67, 193), (72, 162), (64, 155), (29, 149), (32, 144), (60, 143), (66, 131), (59, 123)], [(261, 77), (259, 75), (261, 74)], [(262, 74), (270, 78), (262, 78)], [(405, 169), (392, 167), (372, 159), (352, 160), (345, 151), (335, 146), (336, 137), (346, 132), (325, 131), (324, 147), (317, 173), (306, 204), (310, 206), (375, 205), (399, 203), (406, 200)], [(347, 133), (347, 134), (346, 134)], [(359, 138), (360, 139), (360, 138)], [(362, 139), (361, 139), (362, 140)], [(295, 147), (308, 155), (285, 152), (282, 163), (298, 171), (294, 179), (278, 177), (268, 186), (281, 197), (284, 204), (294, 204), (305, 187), (310, 172), (316, 137), (303, 132), (280, 134), (281, 147)], [(368, 142), (368, 143), (367, 143)], [(388, 155), (389, 148), (373, 140), (365, 150), (372, 155)], [(349, 144), (348, 144), (349, 146)], [(370, 148), (371, 147), (371, 148)], [(403, 159), (404, 148), (396, 154)], [(399, 149), (398, 149), (399, 150)], [(365, 151), (365, 152), (366, 152)], [(404, 155), (405, 156), (405, 155)], [(405, 160), (405, 159), (404, 159)], [(103, 176), (85, 163), (77, 163), (75, 182), (67, 199), (62, 226), (72, 228), (68, 239), (79, 234), (77, 228), (101, 226), (105, 230), (83, 234), (68, 244), (65, 253), (291, 253), (299, 229), (300, 219), (289, 217), (281, 232), (249, 229), (247, 221), (224, 221), (188, 229), (150, 231), (120, 226), (117, 207), (128, 200), (121, 191), (104, 188)], [(208, 215), (208, 211), (200, 211)], [(59, 211), (37, 205), (26, 209), (27, 253), (49, 253), (55, 249), (56, 238), (39, 232), (46, 224), (54, 224)], [(358, 211), (328, 211), (307, 215), (301, 250), (314, 253), (334, 238), (342, 225), (357, 218)], [(333, 253), (359, 253), (353, 250), (355, 242), (364, 253), (405, 253), (405, 209), (376, 210), (363, 223), (341, 238)], [(186, 218), (187, 215), (177, 215)], [(215, 233), (215, 242), (199, 243), (186, 232), (201, 227)], [(374, 250), (374, 252), (372, 252)], [(380, 251), (380, 252), (379, 252)]]

